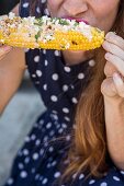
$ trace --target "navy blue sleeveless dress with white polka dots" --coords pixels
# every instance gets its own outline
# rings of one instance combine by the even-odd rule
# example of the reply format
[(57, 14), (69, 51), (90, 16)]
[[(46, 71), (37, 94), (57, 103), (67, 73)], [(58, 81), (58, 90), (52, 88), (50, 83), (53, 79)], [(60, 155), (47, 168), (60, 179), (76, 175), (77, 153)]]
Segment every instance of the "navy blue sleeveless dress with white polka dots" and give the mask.
[[(45, 1), (36, 7), (36, 16), (48, 13)], [(22, 0), (21, 16), (29, 15), (29, 0)], [(69, 163), (67, 152), (71, 140), (71, 129), (76, 105), (88, 84), (95, 62), (89, 60), (68, 67), (58, 50), (30, 49), (25, 51), (26, 63), (31, 79), (41, 94), (46, 112), (33, 125), (26, 136), (24, 146), (19, 150), (13, 162), (10, 178), (5, 186), (58, 186), (61, 175), (60, 164), (66, 167)], [(59, 140), (65, 137), (65, 140)], [(56, 140), (57, 139), (57, 140)], [(80, 173), (74, 182), (61, 186), (123, 186), (124, 172), (112, 166), (102, 178), (89, 177)]]

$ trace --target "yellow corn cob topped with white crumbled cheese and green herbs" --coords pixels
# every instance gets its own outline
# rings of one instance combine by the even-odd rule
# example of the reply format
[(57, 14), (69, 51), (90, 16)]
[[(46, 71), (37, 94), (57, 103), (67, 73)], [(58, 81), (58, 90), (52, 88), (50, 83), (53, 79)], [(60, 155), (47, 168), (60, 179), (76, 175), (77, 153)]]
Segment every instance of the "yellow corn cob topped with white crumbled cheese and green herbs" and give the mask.
[(10, 13), (0, 20), (0, 43), (14, 47), (89, 50), (104, 40), (104, 32), (76, 20)]

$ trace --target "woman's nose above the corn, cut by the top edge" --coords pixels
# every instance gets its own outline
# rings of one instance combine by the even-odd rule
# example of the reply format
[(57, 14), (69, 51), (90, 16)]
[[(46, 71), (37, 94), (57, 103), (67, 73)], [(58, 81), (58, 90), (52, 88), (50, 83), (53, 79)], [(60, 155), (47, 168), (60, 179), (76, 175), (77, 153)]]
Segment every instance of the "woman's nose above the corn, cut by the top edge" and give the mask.
[(68, 15), (77, 16), (88, 10), (88, 4), (83, 0), (65, 0), (63, 8)]

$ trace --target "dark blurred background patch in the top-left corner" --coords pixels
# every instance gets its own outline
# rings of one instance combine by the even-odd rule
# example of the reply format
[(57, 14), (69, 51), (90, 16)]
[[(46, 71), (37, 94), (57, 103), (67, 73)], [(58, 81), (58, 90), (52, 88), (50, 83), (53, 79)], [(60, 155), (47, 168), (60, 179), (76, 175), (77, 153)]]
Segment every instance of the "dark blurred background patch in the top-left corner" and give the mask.
[(0, 15), (9, 13), (20, 0), (0, 0)]

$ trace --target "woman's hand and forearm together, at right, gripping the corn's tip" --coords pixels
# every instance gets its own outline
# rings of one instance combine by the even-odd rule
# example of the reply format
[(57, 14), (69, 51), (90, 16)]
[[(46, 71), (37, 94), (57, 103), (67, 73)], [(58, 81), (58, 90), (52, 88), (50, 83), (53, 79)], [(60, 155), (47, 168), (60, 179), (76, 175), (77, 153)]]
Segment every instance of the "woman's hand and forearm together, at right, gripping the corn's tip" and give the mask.
[(104, 98), (108, 150), (115, 166), (124, 170), (124, 39), (108, 33), (103, 48), (106, 50), (106, 79), (102, 82), (101, 92)]

